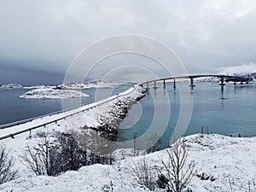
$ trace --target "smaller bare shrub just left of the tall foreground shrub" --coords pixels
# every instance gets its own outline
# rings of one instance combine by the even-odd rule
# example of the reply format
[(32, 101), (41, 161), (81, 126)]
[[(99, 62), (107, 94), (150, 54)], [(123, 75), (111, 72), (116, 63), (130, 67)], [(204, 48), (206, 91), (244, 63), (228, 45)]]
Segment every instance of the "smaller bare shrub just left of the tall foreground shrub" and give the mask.
[(131, 167), (132, 175), (135, 178), (137, 184), (143, 189), (154, 190), (156, 176), (154, 168), (148, 165), (148, 161), (143, 157), (143, 161), (139, 163), (133, 162), (134, 166)]

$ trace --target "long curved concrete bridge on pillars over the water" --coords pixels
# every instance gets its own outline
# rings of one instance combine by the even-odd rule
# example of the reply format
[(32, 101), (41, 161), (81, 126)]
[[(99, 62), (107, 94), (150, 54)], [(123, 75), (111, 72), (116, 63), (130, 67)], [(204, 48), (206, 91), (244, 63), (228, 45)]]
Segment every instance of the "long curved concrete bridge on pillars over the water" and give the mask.
[(219, 79), (219, 85), (221, 85), (221, 89), (224, 89), (225, 82), (234, 82), (236, 84), (237, 82), (240, 84), (246, 83), (248, 84), (250, 81), (252, 81), (252, 78), (246, 78), (246, 77), (241, 77), (241, 76), (231, 76), (231, 75), (189, 75), (189, 76), (180, 76), (180, 77), (172, 77), (172, 78), (166, 78), (166, 79), (154, 79), (150, 81), (145, 81), (140, 83), (140, 85), (143, 86), (143, 84), (147, 84), (146, 89), (149, 89), (148, 84), (154, 82), (154, 89), (156, 89), (156, 82), (163, 82), (163, 87), (166, 88), (166, 81), (167, 80), (173, 80), (173, 89), (176, 89), (176, 79), (190, 79), (190, 84), (189, 87), (191, 90), (194, 89), (195, 84), (194, 84), (194, 79), (197, 78), (218, 78)]

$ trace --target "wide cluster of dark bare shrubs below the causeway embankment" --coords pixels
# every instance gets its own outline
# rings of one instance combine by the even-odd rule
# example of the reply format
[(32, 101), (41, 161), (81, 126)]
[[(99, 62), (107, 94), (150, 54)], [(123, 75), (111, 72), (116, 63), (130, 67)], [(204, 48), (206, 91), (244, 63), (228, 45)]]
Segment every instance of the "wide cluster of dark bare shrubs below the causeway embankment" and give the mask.
[(26, 146), (20, 155), (21, 162), (36, 175), (58, 176), (81, 166), (112, 164), (114, 146), (100, 136), (90, 143), (86, 134), (78, 132), (57, 132), (51, 139), (48, 133), (41, 136), (35, 146)]

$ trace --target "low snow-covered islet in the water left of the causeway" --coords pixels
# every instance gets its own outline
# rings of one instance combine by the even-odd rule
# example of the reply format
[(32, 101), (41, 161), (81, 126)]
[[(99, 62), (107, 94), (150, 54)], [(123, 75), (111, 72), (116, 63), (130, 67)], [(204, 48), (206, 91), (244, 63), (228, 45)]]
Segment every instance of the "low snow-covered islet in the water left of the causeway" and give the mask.
[(24, 99), (61, 99), (88, 96), (85, 93), (77, 90), (57, 90), (57, 89), (36, 89), (29, 90), (20, 98)]

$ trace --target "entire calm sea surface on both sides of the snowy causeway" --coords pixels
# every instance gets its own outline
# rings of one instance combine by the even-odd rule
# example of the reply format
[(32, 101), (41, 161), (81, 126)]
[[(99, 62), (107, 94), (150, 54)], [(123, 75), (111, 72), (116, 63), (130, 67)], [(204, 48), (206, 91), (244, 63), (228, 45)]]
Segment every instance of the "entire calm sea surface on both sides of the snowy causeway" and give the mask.
[[(233, 84), (226, 84), (223, 94), (218, 84), (195, 83), (195, 89), (192, 91), (189, 89), (188, 82), (179, 84), (180, 89), (184, 90), (182, 102), (191, 99), (193, 101), (192, 116), (185, 135), (198, 133), (203, 126), (209, 133), (223, 135), (241, 133), (243, 137), (256, 136), (256, 84), (242, 86), (237, 84), (236, 87)], [(147, 96), (129, 110), (119, 127), (120, 140), (131, 140), (135, 133), (137, 137), (142, 136), (151, 124), (156, 134), (162, 135), (159, 131), (164, 128), (162, 139), (170, 140), (181, 113), (181, 99), (179, 91), (174, 91), (172, 84), (166, 84), (166, 90), (162, 88), (163, 84), (157, 85), (158, 89), (150, 89)], [(95, 101), (95, 95), (100, 99), (127, 90), (131, 86), (131, 84), (124, 84), (115, 90), (101, 89), (97, 94), (96, 89), (83, 90), (90, 97), (84, 97), (81, 101), (79, 99), (65, 101), (73, 107), (76, 105), (74, 103)], [(20, 99), (19, 96), (26, 91), (28, 90), (0, 90), (0, 125), (61, 110), (60, 99)], [(165, 109), (166, 105), (171, 106), (170, 111)], [(155, 114), (160, 118), (153, 123)], [(169, 121), (164, 125), (166, 114)]]

